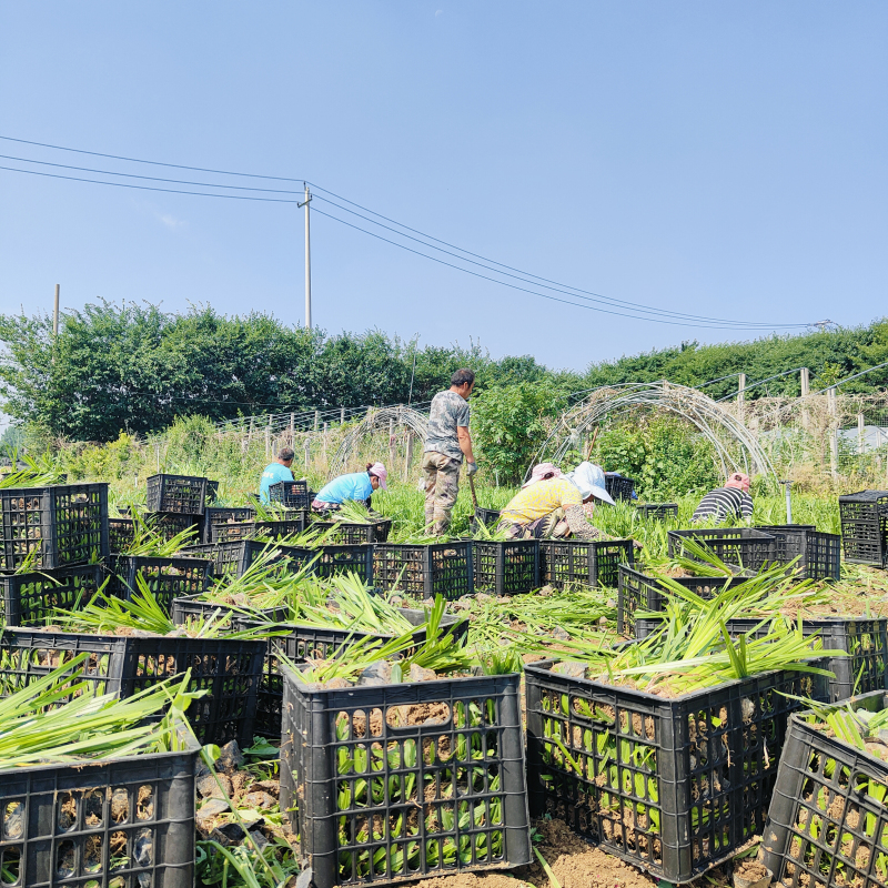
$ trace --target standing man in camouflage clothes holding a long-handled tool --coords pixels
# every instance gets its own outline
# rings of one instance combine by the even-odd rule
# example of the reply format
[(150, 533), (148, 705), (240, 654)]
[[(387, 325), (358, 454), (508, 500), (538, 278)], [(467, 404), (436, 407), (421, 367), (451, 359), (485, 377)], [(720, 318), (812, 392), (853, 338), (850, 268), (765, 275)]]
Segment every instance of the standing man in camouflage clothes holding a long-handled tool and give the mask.
[(423, 453), (425, 482), (425, 526), (435, 536), (443, 536), (451, 523), (451, 513), (460, 493), (460, 466), (466, 458), (466, 474), (478, 471), (468, 434), (468, 396), (475, 385), (471, 370), (457, 370), (451, 387), (432, 398), (428, 432)]

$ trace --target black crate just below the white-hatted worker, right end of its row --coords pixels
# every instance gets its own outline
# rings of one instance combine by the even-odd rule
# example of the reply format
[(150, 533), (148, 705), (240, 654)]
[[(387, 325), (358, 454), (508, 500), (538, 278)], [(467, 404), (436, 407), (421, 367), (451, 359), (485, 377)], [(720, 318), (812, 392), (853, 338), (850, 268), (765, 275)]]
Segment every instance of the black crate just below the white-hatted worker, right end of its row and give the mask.
[(541, 539), (539, 578), (556, 588), (569, 585), (616, 586), (620, 564), (635, 563), (632, 539), (587, 543), (583, 539)]

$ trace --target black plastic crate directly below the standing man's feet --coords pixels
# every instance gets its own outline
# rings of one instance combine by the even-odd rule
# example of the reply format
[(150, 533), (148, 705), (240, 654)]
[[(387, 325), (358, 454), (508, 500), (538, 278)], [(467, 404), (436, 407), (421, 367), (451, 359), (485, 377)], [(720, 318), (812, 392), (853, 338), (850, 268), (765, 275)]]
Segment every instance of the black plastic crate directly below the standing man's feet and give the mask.
[(471, 539), (413, 545), (382, 543), (373, 547), (374, 584), (423, 598), (454, 601), (475, 591)]

